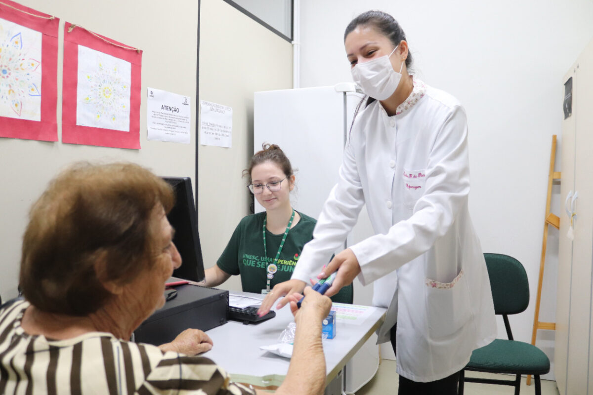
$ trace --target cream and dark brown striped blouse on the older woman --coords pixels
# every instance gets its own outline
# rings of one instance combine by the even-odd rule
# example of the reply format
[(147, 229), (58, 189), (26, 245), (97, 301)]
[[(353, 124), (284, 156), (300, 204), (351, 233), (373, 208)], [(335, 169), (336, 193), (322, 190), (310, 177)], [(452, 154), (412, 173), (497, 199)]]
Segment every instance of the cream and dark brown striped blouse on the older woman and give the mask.
[(52, 341), (21, 327), (27, 301), (0, 311), (0, 394), (254, 394), (208, 358), (90, 332)]

